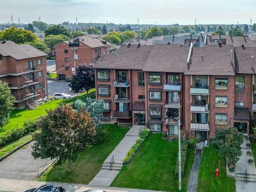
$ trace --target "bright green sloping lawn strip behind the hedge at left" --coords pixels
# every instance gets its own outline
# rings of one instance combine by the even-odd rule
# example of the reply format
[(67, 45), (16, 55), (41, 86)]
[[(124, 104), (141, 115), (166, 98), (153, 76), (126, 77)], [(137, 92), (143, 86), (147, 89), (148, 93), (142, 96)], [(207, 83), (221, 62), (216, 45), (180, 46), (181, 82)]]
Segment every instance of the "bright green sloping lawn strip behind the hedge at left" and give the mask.
[[(94, 92), (95, 90), (89, 91), (89, 93)], [(9, 120), (9, 123), (7, 123), (4, 127), (0, 127), (0, 136), (5, 134), (6, 132), (16, 129), (17, 126), (22, 126), (24, 121), (26, 119), (36, 119), (39, 116), (45, 115), (46, 114), (46, 110), (49, 109), (55, 109), (58, 104), (62, 101), (65, 103), (70, 103), (75, 101), (77, 98), (81, 97), (82, 95), (85, 95), (86, 93), (83, 93), (81, 95), (79, 95), (78, 97), (74, 97), (72, 99), (69, 100), (62, 100), (62, 99), (58, 99), (58, 100), (52, 100), (49, 101), (45, 104), (42, 104), (40, 106), (38, 106), (36, 109), (34, 110), (27, 110), (27, 109), (23, 109), (23, 110), (14, 110), (11, 113), (11, 118)]]

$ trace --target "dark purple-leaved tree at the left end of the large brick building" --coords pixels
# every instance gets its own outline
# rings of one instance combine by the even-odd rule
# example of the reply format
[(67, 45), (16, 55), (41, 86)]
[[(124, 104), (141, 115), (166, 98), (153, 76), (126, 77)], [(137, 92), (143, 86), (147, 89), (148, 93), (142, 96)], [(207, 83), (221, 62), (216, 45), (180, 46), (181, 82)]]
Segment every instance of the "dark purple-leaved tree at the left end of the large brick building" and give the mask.
[(95, 87), (94, 69), (92, 65), (81, 64), (76, 68), (76, 73), (70, 79), (71, 89), (78, 93)]

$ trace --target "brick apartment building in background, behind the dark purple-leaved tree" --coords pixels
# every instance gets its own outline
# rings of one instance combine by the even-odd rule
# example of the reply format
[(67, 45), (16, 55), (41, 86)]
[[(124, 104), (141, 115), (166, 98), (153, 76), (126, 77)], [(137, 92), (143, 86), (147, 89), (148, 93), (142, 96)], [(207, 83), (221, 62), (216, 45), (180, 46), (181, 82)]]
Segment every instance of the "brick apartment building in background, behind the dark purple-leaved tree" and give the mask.
[(56, 56), (57, 80), (69, 80), (74, 70), (74, 51), (76, 49), (76, 66), (82, 63), (94, 63), (101, 55), (110, 54), (111, 47), (101, 38), (78, 36), (63, 41), (54, 47)]

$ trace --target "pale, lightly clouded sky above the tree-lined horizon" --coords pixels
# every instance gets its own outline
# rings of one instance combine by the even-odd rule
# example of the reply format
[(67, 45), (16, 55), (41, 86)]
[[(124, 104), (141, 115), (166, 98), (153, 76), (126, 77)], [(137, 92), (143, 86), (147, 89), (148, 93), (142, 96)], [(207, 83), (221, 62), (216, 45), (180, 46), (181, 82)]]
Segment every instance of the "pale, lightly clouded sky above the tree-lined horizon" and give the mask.
[(0, 23), (250, 24), (256, 0), (0, 0)]

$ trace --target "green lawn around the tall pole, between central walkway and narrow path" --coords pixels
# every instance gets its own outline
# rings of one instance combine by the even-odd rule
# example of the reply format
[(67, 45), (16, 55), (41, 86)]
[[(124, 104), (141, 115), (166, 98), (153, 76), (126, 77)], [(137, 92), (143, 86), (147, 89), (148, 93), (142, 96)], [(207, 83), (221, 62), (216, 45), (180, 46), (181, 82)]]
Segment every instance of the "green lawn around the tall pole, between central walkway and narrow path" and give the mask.
[[(194, 150), (188, 149), (182, 177), (182, 191), (186, 191)], [(162, 134), (150, 134), (142, 143), (129, 164), (124, 165), (111, 186), (178, 191), (175, 166), (178, 158), (178, 141), (167, 142)]]

